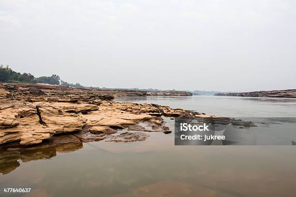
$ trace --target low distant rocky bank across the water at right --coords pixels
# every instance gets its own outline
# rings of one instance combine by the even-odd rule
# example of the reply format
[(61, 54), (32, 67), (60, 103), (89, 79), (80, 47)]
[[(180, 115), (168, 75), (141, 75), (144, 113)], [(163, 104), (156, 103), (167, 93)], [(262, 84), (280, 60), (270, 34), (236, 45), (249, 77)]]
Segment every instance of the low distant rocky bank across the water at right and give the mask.
[(296, 98), (296, 89), (254, 91), (254, 92), (240, 92), (240, 93), (217, 93), (214, 96)]

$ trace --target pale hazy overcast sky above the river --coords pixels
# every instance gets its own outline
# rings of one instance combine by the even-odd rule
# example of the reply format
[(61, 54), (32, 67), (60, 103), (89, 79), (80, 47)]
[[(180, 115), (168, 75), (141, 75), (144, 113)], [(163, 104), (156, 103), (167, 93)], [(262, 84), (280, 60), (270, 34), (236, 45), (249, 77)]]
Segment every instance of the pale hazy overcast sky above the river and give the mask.
[(0, 63), (121, 88), (296, 88), (295, 0), (0, 0)]

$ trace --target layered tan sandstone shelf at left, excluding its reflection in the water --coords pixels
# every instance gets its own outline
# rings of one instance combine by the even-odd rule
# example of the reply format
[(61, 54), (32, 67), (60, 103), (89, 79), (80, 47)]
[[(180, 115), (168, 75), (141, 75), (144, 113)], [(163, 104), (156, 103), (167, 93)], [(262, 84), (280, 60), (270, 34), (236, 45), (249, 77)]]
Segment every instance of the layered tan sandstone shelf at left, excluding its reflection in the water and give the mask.
[[(82, 142), (144, 141), (148, 134), (129, 131), (169, 133), (161, 116), (205, 116), (156, 104), (112, 101), (116, 96), (127, 95), (122, 91), (112, 91), (112, 95), (102, 93), (110, 92), (40, 84), (0, 84), (0, 144), (17, 142), (28, 146), (68, 133), (70, 141), (73, 138)], [(122, 129), (126, 132), (111, 135)]]

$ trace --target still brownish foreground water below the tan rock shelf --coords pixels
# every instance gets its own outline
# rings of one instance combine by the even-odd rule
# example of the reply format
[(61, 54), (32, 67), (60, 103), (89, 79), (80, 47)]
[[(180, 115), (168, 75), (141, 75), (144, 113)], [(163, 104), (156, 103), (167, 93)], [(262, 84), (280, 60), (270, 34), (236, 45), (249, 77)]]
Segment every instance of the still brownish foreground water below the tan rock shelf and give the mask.
[[(170, 135), (165, 135), (167, 140)], [(234, 149), (159, 143), (142, 148), (145, 144), (85, 143), (80, 151), (54, 160), (30, 162), (0, 177), (0, 184), (28, 186), (30, 196), (48, 197), (276, 197), (296, 192), (291, 146)], [(126, 151), (134, 147), (141, 151)]]

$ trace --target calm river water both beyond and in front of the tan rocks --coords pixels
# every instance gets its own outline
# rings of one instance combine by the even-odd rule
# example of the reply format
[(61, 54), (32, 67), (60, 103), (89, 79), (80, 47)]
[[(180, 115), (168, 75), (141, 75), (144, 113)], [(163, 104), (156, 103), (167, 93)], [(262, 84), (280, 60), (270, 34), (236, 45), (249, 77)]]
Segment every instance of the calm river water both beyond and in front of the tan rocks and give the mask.
[[(193, 96), (116, 100), (231, 117), (296, 117), (296, 99)], [(165, 120), (173, 129), (174, 121)], [(0, 159), (1, 171), (6, 171), (0, 175), (0, 196), (296, 195), (296, 146), (175, 146), (174, 132), (149, 135), (142, 142), (98, 141), (11, 155), (11, 160), (6, 156), (6, 160)], [(31, 192), (8, 194), (3, 188), (31, 188)]]

